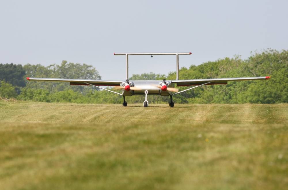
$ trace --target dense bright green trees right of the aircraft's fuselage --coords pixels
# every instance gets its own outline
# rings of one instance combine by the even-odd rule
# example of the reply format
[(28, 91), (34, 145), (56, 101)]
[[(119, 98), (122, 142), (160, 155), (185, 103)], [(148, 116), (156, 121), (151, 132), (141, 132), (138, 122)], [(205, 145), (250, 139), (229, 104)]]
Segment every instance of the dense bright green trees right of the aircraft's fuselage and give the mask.
[[(224, 58), (201, 65), (181, 68), (180, 79), (271, 76), (268, 81), (229, 82), (227, 85), (206, 85), (174, 97), (177, 103), (280, 103), (288, 101), (288, 53), (265, 50), (247, 60), (240, 56)], [(169, 73), (168, 79), (175, 79)], [(184, 90), (190, 87), (179, 87)]]

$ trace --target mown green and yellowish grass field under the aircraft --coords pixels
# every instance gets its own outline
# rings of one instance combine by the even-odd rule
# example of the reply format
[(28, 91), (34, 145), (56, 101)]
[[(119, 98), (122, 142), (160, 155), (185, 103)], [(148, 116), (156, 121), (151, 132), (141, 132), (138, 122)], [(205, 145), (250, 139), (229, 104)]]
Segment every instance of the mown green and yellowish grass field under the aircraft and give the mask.
[(0, 101), (0, 189), (287, 189), (288, 104)]

